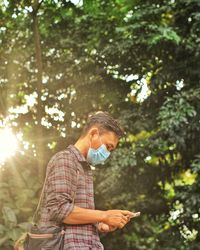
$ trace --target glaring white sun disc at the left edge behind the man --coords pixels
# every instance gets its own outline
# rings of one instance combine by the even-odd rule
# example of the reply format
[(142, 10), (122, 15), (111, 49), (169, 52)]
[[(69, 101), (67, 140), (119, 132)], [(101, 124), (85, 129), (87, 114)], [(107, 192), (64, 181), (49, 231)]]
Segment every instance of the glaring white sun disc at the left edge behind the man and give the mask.
[(8, 128), (0, 130), (0, 165), (17, 150), (17, 138)]

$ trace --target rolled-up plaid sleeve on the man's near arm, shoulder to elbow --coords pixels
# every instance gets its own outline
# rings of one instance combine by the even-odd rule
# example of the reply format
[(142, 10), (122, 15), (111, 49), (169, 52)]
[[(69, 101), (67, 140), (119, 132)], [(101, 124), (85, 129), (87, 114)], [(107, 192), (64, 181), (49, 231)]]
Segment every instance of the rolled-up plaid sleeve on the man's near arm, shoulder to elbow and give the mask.
[(47, 211), (51, 221), (63, 223), (74, 207), (77, 186), (77, 171), (73, 157), (67, 153), (58, 154), (53, 160), (48, 176)]

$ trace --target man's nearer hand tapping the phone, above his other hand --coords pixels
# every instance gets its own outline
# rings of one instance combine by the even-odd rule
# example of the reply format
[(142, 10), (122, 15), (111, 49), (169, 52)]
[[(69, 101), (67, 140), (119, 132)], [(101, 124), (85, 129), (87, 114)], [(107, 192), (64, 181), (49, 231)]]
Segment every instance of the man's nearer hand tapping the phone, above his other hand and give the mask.
[(102, 222), (111, 227), (123, 228), (133, 217), (134, 213), (128, 210), (107, 210), (103, 214)]

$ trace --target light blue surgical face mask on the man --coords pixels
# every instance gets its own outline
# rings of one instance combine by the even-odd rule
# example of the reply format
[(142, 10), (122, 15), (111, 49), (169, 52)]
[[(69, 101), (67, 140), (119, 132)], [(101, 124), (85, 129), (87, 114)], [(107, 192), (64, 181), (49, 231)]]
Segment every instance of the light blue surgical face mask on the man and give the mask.
[[(101, 138), (100, 138), (101, 140)], [(92, 165), (103, 164), (104, 161), (109, 157), (110, 152), (107, 150), (106, 145), (101, 142), (101, 146), (97, 149), (90, 148), (87, 154), (87, 161)]]

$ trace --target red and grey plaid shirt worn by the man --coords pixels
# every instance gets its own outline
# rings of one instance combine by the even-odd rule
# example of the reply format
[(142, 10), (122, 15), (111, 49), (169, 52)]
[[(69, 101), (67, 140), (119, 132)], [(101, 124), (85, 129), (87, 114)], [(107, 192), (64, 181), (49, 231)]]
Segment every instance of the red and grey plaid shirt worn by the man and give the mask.
[[(47, 180), (41, 202), (39, 224), (63, 225), (74, 205), (95, 209), (90, 165), (74, 146), (55, 154), (47, 166)], [(64, 250), (102, 250), (94, 224), (65, 224)]]

